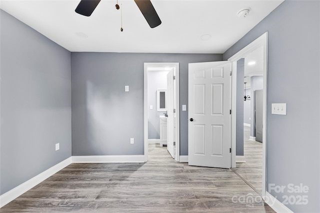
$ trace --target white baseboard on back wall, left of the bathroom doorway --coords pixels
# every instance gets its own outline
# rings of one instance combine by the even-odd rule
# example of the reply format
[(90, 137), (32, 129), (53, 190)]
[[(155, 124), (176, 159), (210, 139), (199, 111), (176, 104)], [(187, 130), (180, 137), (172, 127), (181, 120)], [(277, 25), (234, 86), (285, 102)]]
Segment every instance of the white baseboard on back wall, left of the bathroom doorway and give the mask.
[(72, 156), (72, 163), (143, 163), (143, 155)]

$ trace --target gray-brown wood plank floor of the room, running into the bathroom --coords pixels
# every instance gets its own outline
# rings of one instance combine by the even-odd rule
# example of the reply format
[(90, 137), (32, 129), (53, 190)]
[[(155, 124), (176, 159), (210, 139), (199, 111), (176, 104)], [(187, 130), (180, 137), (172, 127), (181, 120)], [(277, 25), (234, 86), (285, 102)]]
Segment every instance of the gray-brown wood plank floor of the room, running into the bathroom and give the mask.
[(71, 164), (1, 213), (273, 213), (228, 169), (176, 163), (159, 144), (147, 163)]

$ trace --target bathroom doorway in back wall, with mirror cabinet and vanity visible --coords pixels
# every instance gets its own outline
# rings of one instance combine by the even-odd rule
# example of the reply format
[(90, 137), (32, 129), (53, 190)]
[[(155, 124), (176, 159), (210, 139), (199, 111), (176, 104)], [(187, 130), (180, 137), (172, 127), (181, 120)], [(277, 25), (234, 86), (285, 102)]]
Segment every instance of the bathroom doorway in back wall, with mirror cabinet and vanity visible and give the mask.
[(144, 63), (144, 161), (159, 143), (179, 161), (179, 63)]

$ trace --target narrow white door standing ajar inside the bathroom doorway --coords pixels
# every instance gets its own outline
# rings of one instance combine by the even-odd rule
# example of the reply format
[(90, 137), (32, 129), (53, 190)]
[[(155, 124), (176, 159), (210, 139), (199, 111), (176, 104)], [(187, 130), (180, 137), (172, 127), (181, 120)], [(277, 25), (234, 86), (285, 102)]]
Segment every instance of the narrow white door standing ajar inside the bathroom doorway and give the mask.
[(175, 125), (174, 125), (174, 70), (172, 69), (166, 76), (166, 109), (167, 109), (167, 142), (166, 148), (172, 158), (175, 157), (174, 150), (174, 133), (175, 133)]

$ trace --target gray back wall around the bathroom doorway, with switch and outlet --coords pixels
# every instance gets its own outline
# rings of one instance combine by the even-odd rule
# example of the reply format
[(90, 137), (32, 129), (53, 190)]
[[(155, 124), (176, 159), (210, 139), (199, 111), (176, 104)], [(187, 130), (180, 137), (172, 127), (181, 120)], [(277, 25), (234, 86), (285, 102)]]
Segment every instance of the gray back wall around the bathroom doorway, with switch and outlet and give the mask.
[[(221, 59), (221, 54), (72, 52), (72, 155), (143, 155), (144, 62), (179, 62), (181, 106), (188, 101), (188, 63)], [(179, 108), (180, 155), (187, 155), (187, 111)]]

